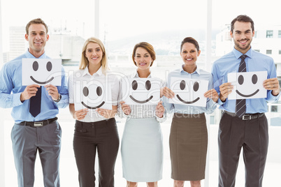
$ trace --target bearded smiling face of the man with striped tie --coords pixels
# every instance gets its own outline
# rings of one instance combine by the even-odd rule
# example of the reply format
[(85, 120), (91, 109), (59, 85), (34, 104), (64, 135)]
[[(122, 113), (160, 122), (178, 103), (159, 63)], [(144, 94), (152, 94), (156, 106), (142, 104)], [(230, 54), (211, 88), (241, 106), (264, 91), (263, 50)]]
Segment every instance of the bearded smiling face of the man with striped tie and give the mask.
[(245, 54), (251, 48), (252, 37), (254, 31), (252, 31), (252, 25), (250, 22), (235, 22), (233, 32), (230, 33), (233, 38), (234, 47), (236, 50)]

